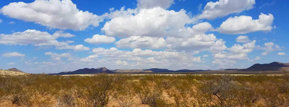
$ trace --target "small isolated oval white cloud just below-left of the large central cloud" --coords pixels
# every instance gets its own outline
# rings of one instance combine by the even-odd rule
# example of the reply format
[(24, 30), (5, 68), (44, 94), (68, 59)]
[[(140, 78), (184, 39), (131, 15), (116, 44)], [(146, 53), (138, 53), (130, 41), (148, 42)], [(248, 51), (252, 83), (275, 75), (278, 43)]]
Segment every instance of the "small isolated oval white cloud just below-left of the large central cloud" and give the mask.
[(96, 34), (96, 35), (93, 35), (92, 38), (84, 39), (84, 41), (90, 44), (113, 43), (115, 42), (115, 38)]

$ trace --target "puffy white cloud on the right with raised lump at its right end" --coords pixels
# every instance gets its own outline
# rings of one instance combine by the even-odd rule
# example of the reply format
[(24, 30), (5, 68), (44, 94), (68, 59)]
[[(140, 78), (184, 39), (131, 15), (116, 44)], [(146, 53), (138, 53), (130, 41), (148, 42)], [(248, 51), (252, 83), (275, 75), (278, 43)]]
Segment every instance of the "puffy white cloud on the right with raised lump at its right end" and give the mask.
[(271, 26), (273, 20), (272, 14), (266, 15), (263, 13), (256, 20), (253, 20), (251, 16), (235, 16), (224, 21), (218, 31), (225, 34), (246, 34), (256, 31), (269, 32), (273, 28)]

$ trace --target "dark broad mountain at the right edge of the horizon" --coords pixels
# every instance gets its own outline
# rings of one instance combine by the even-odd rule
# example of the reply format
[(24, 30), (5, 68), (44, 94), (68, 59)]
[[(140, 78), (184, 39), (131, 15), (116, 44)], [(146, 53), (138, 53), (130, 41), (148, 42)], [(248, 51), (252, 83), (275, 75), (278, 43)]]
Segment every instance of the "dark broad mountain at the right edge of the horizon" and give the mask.
[(282, 68), (289, 69), (289, 63), (272, 62), (270, 64), (254, 64), (247, 69), (240, 69), (238, 71), (276, 71)]

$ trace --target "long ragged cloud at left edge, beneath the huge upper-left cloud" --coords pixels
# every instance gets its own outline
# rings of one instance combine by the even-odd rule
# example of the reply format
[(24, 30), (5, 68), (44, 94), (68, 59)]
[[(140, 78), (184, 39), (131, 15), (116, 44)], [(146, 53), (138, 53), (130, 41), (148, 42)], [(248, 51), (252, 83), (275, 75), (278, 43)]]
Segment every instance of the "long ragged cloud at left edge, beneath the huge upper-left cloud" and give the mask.
[[(50, 35), (48, 32), (41, 32), (39, 30), (25, 30), (24, 32), (16, 32), (11, 35), (0, 34), (0, 44), (5, 45), (28, 45), (34, 46), (56, 46), (56, 49), (73, 49), (75, 51), (89, 50), (89, 47), (83, 45), (69, 45), (72, 41), (60, 42), (57, 41), (59, 37), (75, 37), (70, 33), (57, 31)], [(83, 48), (83, 49), (80, 49)]]

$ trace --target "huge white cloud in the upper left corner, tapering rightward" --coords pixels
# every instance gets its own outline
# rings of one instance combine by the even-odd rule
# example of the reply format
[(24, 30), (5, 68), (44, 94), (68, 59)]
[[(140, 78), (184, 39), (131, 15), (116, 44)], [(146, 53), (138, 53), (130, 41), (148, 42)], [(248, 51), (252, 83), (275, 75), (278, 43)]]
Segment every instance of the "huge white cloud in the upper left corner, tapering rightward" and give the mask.
[(85, 30), (99, 26), (102, 16), (77, 9), (71, 0), (36, 0), (32, 3), (13, 2), (0, 11), (3, 15), (49, 28)]

